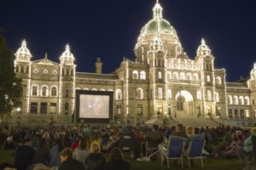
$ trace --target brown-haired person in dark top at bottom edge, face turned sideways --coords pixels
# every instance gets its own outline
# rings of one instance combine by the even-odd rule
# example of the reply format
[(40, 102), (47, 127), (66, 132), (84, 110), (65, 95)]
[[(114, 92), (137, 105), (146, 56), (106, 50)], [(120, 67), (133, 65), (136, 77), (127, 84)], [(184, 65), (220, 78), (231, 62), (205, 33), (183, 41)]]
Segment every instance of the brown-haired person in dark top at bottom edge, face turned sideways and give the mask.
[(82, 162), (73, 159), (72, 150), (64, 149), (60, 154), (61, 166), (59, 170), (84, 170), (84, 165)]

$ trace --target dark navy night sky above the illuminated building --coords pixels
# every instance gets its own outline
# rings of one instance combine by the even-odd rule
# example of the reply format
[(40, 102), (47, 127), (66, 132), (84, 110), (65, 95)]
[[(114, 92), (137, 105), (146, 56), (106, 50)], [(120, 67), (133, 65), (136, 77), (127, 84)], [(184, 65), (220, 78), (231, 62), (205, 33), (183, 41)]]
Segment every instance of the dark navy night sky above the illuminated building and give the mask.
[[(256, 61), (255, 0), (160, 0), (160, 4), (190, 59), (205, 37), (216, 67), (226, 68), (229, 81), (248, 77)], [(124, 56), (135, 59), (133, 48), (153, 7), (154, 0), (1, 0), (0, 27), (14, 50), (25, 38), (32, 59), (47, 52), (49, 59), (59, 62), (68, 42), (77, 71), (94, 71), (96, 57), (101, 57), (108, 73)]]

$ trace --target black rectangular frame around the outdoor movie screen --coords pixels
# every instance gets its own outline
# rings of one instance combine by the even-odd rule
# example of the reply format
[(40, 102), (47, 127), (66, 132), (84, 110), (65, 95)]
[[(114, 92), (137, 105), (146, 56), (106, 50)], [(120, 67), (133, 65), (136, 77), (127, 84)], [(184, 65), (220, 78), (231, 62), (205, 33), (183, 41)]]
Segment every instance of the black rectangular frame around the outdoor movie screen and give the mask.
[[(80, 95), (102, 95), (109, 96), (109, 118), (83, 118), (79, 116), (80, 113)], [(113, 120), (113, 92), (111, 91), (93, 91), (93, 90), (79, 90), (76, 89), (76, 103), (75, 103), (75, 116), (74, 122), (85, 122), (85, 123), (109, 123)]]

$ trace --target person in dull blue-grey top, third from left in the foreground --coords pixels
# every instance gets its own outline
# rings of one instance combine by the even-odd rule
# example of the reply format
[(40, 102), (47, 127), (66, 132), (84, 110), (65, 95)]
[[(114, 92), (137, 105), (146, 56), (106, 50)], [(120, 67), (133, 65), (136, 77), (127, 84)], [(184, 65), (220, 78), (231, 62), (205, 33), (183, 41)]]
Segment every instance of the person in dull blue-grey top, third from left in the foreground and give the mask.
[(55, 145), (49, 150), (49, 166), (59, 167), (61, 165), (61, 160), (59, 154), (61, 150), (64, 149), (64, 144), (61, 139), (56, 139)]

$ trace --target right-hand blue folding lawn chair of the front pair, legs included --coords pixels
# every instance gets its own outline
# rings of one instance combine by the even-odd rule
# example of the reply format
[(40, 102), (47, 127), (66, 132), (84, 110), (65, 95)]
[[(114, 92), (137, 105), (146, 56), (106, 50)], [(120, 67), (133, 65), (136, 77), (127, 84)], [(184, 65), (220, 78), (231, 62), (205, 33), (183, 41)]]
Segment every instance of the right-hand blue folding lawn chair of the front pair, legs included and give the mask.
[(189, 161), (189, 168), (191, 167), (190, 160), (201, 159), (201, 167), (204, 167), (202, 151), (205, 146), (205, 140), (192, 140), (189, 143), (189, 150), (186, 154)]

